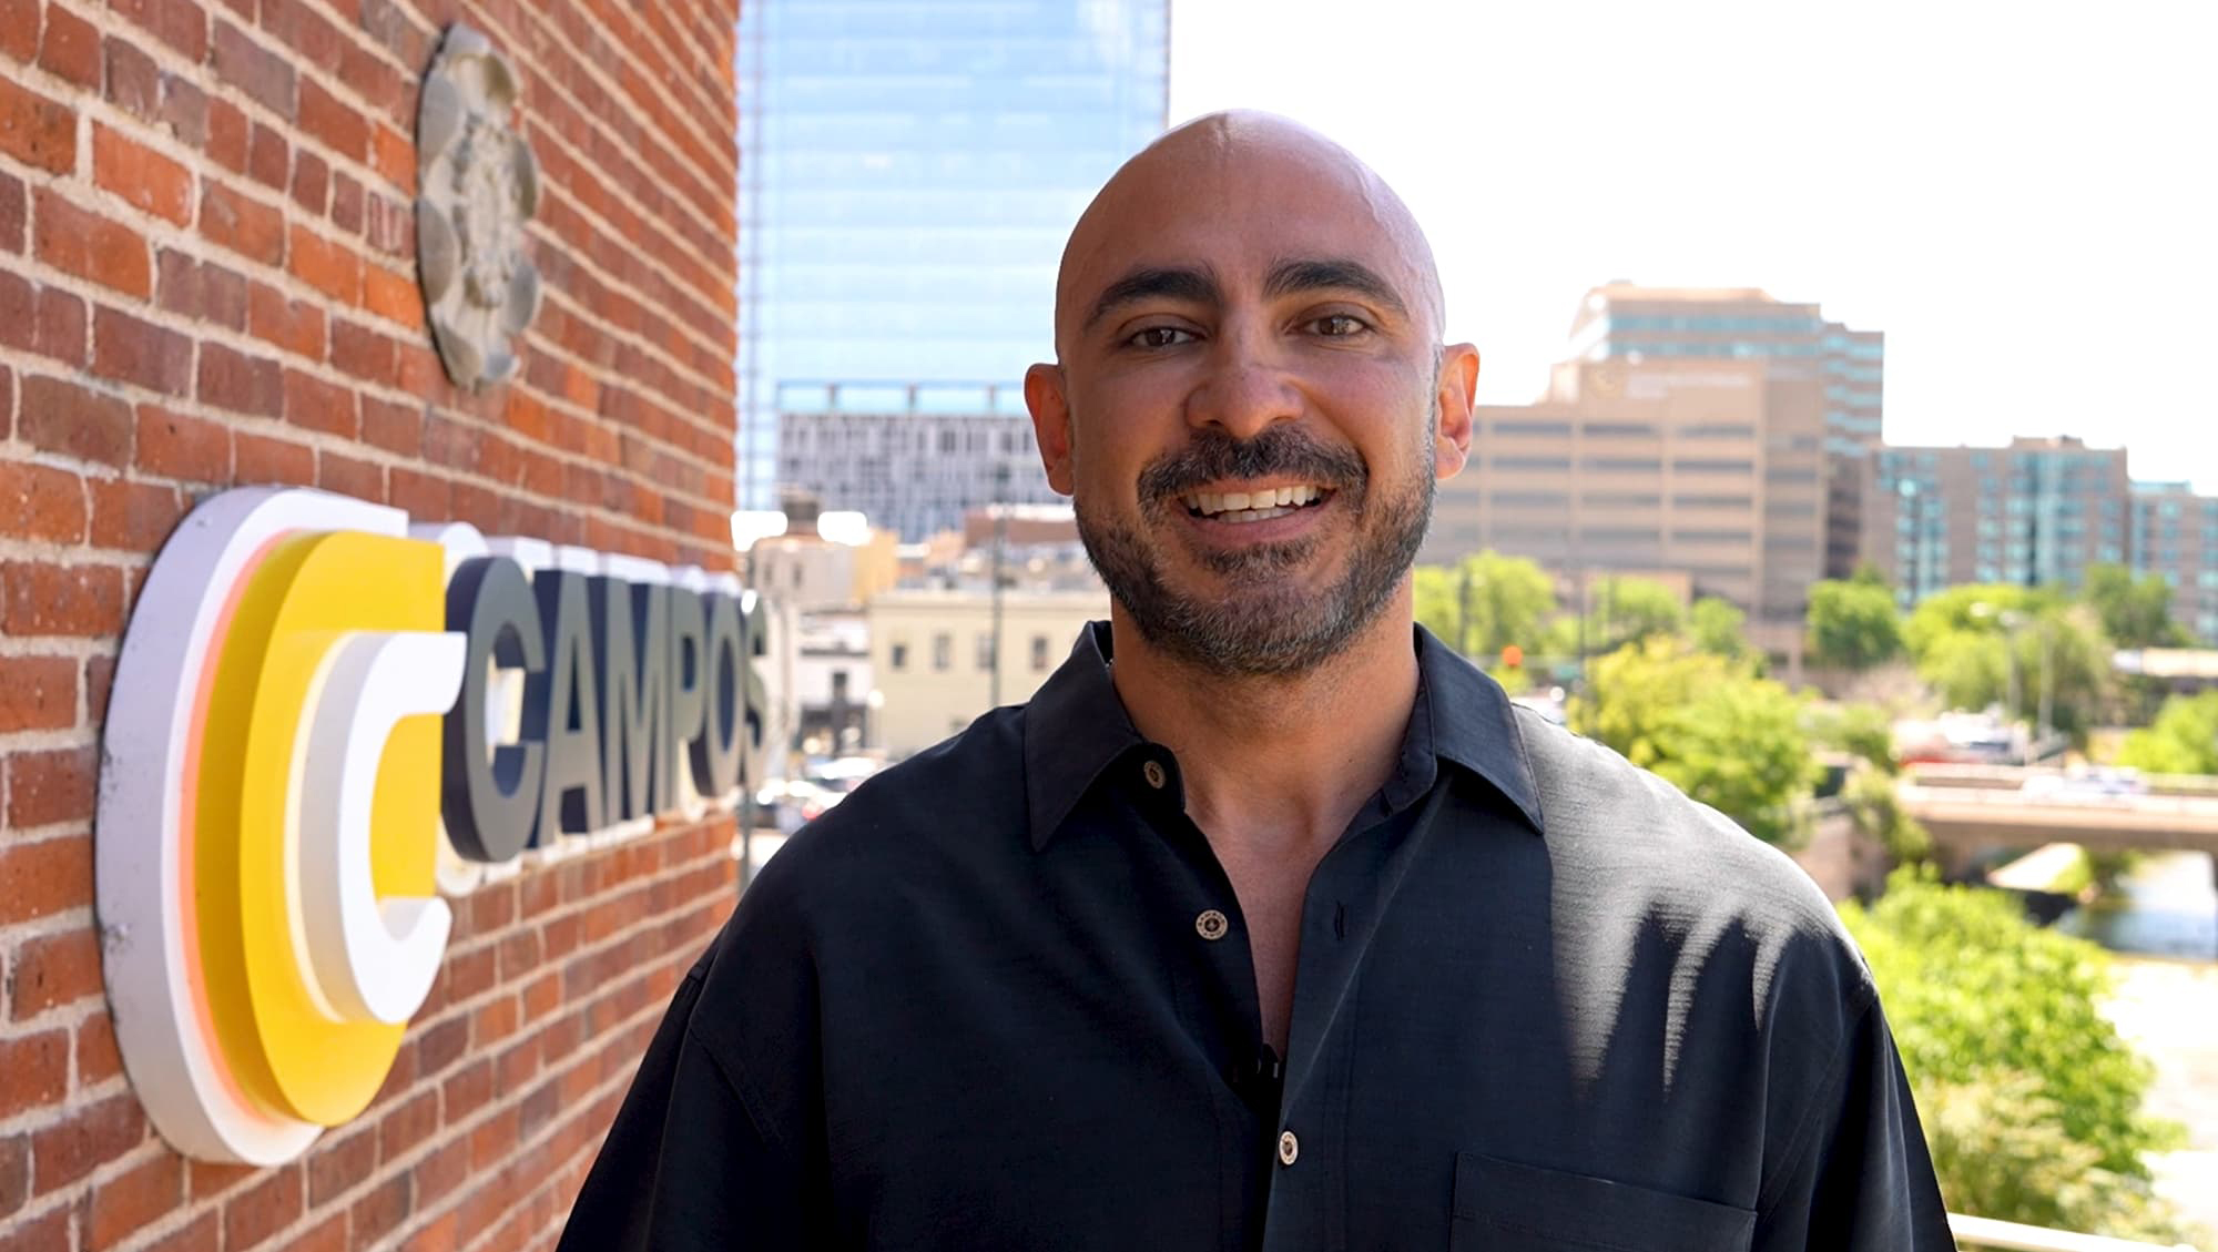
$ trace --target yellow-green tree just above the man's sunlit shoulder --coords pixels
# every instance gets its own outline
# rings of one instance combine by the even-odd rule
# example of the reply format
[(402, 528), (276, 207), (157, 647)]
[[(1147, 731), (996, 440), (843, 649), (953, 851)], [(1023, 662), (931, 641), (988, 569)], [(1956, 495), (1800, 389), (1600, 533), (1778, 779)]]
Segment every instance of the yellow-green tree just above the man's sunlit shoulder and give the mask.
[(1770, 844), (1803, 835), (1819, 764), (1801, 699), (1672, 635), (1597, 657), (1573, 730), (1624, 753)]

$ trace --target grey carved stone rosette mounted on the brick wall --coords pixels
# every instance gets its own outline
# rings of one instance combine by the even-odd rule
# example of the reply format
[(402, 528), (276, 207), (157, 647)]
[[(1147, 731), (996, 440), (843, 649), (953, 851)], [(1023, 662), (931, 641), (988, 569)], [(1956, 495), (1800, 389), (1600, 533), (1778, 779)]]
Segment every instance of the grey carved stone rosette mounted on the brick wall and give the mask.
[(539, 162), (515, 104), (508, 58), (448, 27), (417, 107), (417, 271), (446, 375), (470, 391), (515, 377), (510, 340), (539, 315), (539, 269), (523, 255)]

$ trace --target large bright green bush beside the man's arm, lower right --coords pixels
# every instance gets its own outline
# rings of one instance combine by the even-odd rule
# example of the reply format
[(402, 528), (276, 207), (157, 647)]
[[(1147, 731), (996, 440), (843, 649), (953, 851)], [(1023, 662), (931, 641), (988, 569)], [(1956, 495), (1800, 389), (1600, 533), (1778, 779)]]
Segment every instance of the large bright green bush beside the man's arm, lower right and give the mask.
[(2154, 1077), (2100, 1012), (2107, 955), (1990, 890), (1896, 870), (1841, 906), (1879, 983), (1952, 1208), (2169, 1239), (2145, 1152), (2180, 1128), (2143, 1112)]

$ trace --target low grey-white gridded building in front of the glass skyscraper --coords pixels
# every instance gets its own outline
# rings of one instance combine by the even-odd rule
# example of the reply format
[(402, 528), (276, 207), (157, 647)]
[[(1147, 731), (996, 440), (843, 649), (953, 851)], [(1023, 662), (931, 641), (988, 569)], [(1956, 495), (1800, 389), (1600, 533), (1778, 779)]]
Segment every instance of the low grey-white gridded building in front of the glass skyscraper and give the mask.
[(1018, 386), (781, 386), (779, 482), (912, 544), (960, 528), (971, 506), (1062, 499)]

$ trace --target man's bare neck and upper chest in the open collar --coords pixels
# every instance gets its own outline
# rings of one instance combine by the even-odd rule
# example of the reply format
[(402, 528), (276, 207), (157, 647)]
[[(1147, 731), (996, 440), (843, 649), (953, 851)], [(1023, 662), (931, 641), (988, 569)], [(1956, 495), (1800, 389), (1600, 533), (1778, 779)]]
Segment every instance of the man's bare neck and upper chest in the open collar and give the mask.
[[(1304, 675), (1198, 673), (1116, 608), (1116, 693), (1178, 755), (1187, 812), (1220, 857), (1315, 857), (1391, 777), (1417, 699), (1411, 588)], [(1306, 875), (1304, 875), (1306, 877)]]

